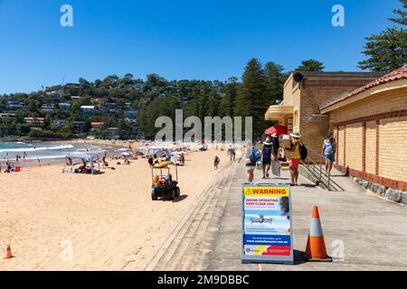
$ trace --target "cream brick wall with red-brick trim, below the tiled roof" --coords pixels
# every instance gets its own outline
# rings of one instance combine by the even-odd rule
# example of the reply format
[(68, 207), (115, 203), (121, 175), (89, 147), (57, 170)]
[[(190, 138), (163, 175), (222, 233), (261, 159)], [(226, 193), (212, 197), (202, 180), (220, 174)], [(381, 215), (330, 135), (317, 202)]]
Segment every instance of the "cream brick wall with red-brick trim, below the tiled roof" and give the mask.
[(338, 131), (339, 168), (407, 190), (407, 88), (338, 108), (329, 117)]

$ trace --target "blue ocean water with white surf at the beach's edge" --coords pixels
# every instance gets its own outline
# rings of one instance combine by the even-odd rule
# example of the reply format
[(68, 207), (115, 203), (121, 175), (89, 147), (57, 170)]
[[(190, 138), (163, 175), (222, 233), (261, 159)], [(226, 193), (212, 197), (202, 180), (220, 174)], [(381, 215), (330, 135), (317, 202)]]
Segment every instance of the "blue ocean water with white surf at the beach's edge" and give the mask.
[(17, 154), (23, 158), (24, 152), (26, 160), (59, 159), (64, 158), (67, 154), (75, 152), (91, 152), (99, 153), (106, 148), (92, 144), (55, 144), (55, 143), (35, 143), (25, 144), (21, 142), (9, 143), (0, 141), (0, 160), (10, 159), (15, 160)]

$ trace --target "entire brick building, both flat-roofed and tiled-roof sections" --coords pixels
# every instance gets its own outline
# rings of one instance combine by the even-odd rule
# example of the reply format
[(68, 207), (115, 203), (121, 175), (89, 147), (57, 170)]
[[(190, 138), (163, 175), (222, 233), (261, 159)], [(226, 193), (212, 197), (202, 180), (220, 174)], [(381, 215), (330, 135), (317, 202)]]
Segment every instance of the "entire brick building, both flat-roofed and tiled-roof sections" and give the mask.
[(384, 191), (407, 191), (407, 65), (384, 76), (294, 72), (266, 119), (299, 131), (316, 161), (333, 132), (336, 168)]

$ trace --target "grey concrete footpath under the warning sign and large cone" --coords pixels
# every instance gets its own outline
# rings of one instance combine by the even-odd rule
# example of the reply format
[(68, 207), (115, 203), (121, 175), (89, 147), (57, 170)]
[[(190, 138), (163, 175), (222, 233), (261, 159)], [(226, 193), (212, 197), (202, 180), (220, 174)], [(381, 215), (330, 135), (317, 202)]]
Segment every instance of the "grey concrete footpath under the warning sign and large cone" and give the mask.
[[(256, 171), (255, 182), (261, 172)], [(241, 264), (241, 182), (246, 180), (244, 164), (237, 165), (229, 191), (223, 191), (226, 205), (219, 228), (206, 244), (204, 270), (407, 270), (407, 207), (377, 197), (335, 172), (335, 181), (345, 191), (328, 192), (300, 177), (301, 186), (292, 188), (295, 265)], [(289, 182), (289, 172), (270, 183)], [(328, 254), (344, 258), (333, 263), (307, 263), (301, 253), (307, 246), (313, 205), (317, 205)], [(194, 269), (194, 267), (192, 269)]]

